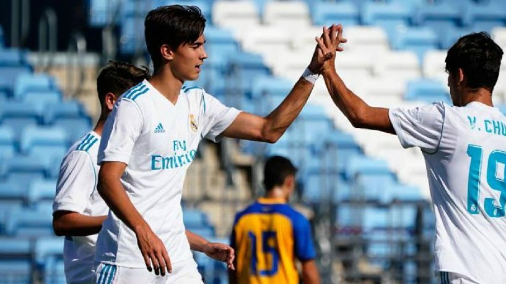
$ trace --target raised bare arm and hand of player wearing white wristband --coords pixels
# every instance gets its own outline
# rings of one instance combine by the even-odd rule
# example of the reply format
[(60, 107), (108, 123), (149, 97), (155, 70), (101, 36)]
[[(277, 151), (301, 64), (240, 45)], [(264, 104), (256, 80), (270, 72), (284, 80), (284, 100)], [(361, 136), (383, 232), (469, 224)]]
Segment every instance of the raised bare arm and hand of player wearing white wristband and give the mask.
[[(341, 40), (341, 42), (346, 42), (346, 39), (341, 38)], [(340, 49), (339, 44), (335, 45), (333, 54), (335, 54), (335, 49)], [(308, 70), (314, 75), (320, 74), (324, 62), (329, 60), (331, 56), (330, 51), (322, 52), (320, 48), (316, 48)], [(299, 78), (299, 81), (293, 86), (286, 98), (269, 115), (260, 117), (241, 112), (222, 135), (231, 138), (275, 143), (297, 118), (313, 87), (314, 83), (303, 77)]]

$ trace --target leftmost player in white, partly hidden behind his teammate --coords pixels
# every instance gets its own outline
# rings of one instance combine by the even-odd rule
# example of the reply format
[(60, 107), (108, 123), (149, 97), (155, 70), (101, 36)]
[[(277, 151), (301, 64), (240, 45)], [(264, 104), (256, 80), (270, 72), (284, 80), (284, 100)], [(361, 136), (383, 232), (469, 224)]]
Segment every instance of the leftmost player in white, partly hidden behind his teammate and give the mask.
[(74, 143), (63, 158), (53, 204), (53, 228), (65, 236), (67, 283), (92, 283), (95, 242), (109, 208), (97, 193), (97, 153), (105, 120), (116, 98), (148, 78), (148, 71), (110, 62), (97, 78), (101, 114), (95, 128)]

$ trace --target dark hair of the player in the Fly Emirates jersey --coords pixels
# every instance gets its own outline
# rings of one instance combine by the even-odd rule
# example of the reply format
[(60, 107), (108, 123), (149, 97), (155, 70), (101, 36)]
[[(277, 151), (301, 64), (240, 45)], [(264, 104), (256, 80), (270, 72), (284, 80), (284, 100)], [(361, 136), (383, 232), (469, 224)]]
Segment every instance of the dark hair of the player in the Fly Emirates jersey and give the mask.
[(161, 65), (160, 46), (177, 49), (183, 43), (193, 43), (204, 32), (205, 19), (196, 6), (161, 6), (149, 11), (144, 21), (146, 46), (154, 70)]

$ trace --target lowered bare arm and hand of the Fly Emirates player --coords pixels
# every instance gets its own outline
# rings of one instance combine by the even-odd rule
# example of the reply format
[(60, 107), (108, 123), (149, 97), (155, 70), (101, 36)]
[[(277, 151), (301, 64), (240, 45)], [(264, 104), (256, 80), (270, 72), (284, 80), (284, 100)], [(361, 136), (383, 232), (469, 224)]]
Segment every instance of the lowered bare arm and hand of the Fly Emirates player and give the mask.
[(153, 267), (156, 275), (165, 275), (165, 269), (171, 273), (171, 260), (165, 245), (153, 233), (121, 185), (120, 178), (125, 168), (126, 164), (122, 162), (103, 162), (98, 175), (97, 190), (112, 212), (135, 232), (148, 270), (152, 271)]

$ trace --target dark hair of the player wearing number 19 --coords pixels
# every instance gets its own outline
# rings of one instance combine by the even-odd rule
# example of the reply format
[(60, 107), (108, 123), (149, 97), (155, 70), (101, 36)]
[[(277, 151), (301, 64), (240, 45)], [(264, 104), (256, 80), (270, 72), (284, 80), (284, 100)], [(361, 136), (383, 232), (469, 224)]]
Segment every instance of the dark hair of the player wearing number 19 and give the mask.
[(446, 72), (454, 75), (458, 68), (466, 76), (468, 87), (493, 91), (502, 59), (502, 49), (486, 32), (462, 36), (446, 54)]

